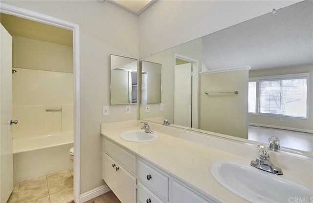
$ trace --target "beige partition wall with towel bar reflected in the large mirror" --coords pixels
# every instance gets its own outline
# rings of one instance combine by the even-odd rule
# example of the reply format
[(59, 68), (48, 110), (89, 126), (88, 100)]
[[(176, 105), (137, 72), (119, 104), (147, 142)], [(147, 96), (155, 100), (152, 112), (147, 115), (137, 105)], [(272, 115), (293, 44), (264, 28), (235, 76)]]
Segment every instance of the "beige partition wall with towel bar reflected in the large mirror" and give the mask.
[[(248, 70), (200, 75), (199, 128), (211, 132), (248, 138)], [(238, 94), (204, 94), (204, 92)]]

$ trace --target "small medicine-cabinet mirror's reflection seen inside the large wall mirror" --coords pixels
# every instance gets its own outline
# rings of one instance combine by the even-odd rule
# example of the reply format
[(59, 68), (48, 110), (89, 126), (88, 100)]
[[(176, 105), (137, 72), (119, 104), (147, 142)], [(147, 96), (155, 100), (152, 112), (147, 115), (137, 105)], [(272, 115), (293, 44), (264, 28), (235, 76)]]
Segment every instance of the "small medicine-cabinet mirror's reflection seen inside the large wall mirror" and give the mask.
[(141, 61), (141, 104), (161, 103), (162, 65)]

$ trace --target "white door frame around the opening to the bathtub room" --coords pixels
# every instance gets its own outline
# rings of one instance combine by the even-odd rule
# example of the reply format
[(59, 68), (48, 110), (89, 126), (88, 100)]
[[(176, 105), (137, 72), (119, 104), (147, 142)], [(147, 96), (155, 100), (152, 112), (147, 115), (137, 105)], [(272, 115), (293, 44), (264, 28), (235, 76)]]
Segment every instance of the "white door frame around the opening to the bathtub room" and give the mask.
[(79, 66), (79, 25), (16, 6), (0, 3), (0, 12), (28, 20), (61, 27), (73, 32), (73, 76), (74, 76), (74, 201), (80, 201), (80, 66)]

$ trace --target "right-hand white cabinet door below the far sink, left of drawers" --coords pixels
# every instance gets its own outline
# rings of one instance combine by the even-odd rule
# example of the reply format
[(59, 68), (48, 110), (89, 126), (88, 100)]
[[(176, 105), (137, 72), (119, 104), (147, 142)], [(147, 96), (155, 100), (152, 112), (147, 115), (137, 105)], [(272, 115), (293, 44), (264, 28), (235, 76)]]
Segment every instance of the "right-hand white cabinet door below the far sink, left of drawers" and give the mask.
[(136, 202), (136, 178), (126, 171), (122, 166), (118, 166), (116, 171), (117, 197), (122, 203)]

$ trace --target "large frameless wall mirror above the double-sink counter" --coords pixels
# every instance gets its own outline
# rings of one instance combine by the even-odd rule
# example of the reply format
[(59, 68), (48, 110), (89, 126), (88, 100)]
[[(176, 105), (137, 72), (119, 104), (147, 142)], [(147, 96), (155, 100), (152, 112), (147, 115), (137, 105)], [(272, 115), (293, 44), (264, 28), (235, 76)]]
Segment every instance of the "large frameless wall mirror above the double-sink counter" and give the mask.
[(248, 143), (276, 136), (281, 150), (312, 157), (312, 8), (302, 1), (143, 58), (162, 65), (162, 107), (141, 105), (140, 119)]

